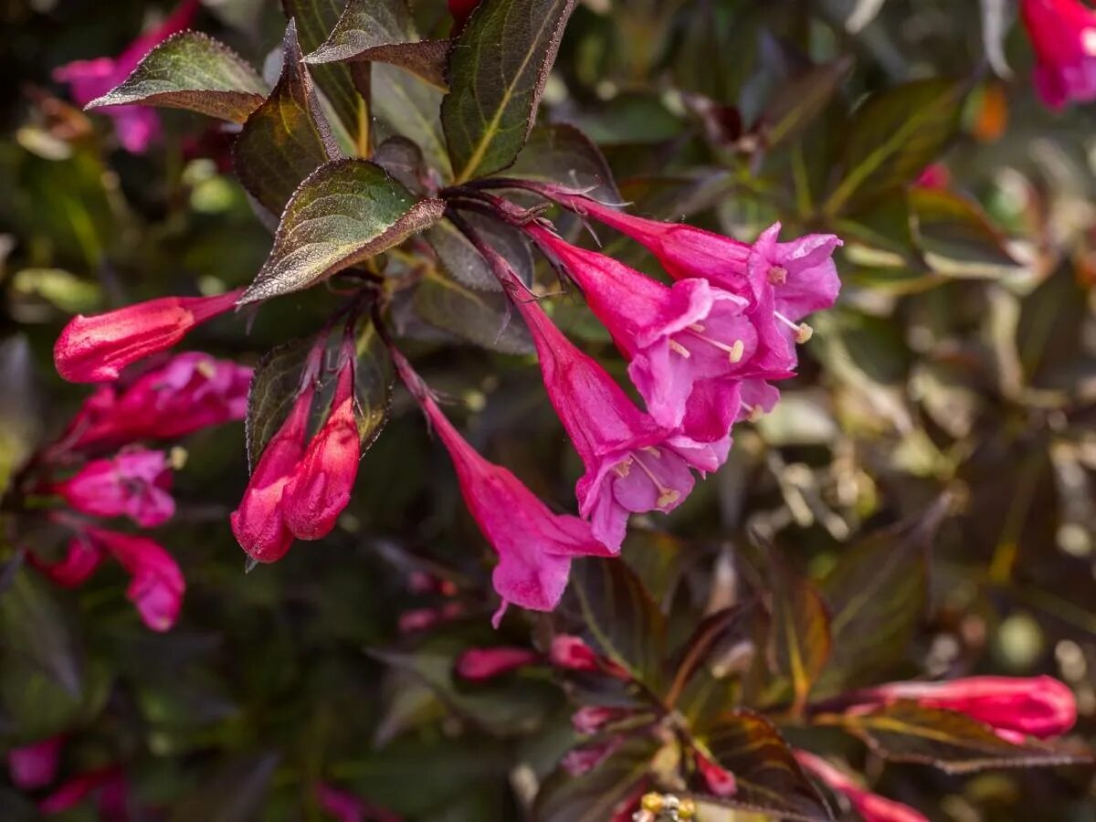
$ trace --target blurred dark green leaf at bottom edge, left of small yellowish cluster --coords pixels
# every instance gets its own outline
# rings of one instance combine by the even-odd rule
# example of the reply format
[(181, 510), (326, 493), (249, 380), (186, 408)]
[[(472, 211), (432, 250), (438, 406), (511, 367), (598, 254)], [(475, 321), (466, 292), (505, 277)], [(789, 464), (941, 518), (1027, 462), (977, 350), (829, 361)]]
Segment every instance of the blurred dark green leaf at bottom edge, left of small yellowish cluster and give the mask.
[(536, 822), (605, 822), (624, 811), (651, 770), (657, 744), (632, 738), (590, 773), (574, 777), (555, 770), (537, 791)]

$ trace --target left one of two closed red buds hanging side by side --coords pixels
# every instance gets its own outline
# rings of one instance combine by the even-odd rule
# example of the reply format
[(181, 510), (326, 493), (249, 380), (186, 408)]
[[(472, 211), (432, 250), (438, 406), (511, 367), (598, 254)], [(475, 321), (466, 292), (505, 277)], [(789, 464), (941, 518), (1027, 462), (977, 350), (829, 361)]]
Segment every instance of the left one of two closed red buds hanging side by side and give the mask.
[(305, 456), (308, 415), (322, 358), (323, 347), (317, 345), (301, 374), (300, 389), (289, 415), (263, 449), (239, 507), (229, 516), (237, 541), (256, 562), (276, 562), (293, 545), (282, 499)]

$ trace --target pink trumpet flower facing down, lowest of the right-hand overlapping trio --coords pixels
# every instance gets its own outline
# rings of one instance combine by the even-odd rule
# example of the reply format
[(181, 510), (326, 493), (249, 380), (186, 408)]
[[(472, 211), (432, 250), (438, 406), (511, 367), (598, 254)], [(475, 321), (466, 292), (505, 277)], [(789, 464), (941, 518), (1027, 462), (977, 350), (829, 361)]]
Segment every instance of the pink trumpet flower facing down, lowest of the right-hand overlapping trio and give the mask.
[(713, 470), (726, 450), (697, 447), (687, 438), (674, 442), (675, 432), (636, 408), (540, 306), (532, 298), (515, 302), (533, 332), (548, 399), (586, 467), (575, 487), (579, 512), (596, 539), (618, 550), (630, 513), (673, 511), (693, 490), (689, 468)]

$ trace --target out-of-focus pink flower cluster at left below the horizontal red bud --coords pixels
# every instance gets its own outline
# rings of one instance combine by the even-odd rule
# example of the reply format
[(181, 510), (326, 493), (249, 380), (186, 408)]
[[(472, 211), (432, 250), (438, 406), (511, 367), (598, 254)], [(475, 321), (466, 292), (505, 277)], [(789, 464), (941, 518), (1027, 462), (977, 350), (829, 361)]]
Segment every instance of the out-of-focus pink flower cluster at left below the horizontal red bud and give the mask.
[(185, 590), (175, 560), (150, 537), (105, 528), (89, 517), (125, 517), (141, 528), (170, 520), (172, 469), (183, 452), (144, 443), (242, 419), (250, 378), (249, 368), (189, 353), (133, 380), (100, 386), (30, 464), (27, 492), (62, 502), (67, 510), (52, 509), (48, 517), (71, 535), (61, 559), (32, 551), (31, 564), (56, 584), (75, 587), (112, 558), (130, 575), (126, 595), (145, 624), (158, 631), (171, 628)]

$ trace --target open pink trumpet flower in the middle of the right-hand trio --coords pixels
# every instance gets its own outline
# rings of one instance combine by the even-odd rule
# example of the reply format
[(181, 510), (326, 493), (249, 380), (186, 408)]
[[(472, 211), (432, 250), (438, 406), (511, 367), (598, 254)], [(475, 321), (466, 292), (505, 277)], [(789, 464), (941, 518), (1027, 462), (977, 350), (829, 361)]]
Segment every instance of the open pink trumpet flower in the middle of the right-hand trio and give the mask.
[[(708, 281), (682, 279), (672, 288), (613, 258), (564, 242), (548, 229), (526, 229), (578, 282), (594, 315), (631, 362), (628, 375), (657, 422), (677, 427), (686, 414), (693, 387), (712, 380), (723, 388), (721, 403), (738, 411), (743, 376), (775, 372), (786, 376), (792, 359), (756, 363), (757, 331), (745, 316), (749, 302)], [(781, 342), (783, 345), (783, 342)], [(785, 353), (787, 349), (785, 349)], [(721, 439), (728, 425), (713, 439)]]

